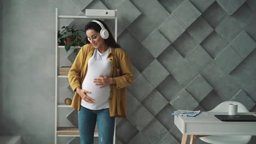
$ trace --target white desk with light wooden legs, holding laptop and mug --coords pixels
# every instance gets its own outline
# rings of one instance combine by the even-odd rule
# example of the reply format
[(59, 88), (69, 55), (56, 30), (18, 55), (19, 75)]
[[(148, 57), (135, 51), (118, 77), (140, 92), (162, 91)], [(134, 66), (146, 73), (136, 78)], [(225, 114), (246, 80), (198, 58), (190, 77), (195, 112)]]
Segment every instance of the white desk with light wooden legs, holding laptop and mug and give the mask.
[[(174, 124), (183, 134), (182, 144), (191, 136), (190, 144), (197, 137), (208, 135), (256, 135), (256, 122), (223, 122), (214, 115), (227, 115), (226, 112), (202, 112), (196, 117), (174, 116)], [(253, 115), (253, 112), (238, 113)]]

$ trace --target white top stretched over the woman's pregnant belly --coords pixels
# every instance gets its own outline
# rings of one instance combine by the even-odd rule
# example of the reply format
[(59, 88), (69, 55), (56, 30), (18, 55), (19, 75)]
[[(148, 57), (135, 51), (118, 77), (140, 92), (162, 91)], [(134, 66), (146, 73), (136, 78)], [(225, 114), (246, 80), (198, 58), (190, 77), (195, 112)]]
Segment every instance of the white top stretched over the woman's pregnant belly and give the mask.
[(94, 55), (89, 58), (88, 69), (85, 75), (85, 79), (82, 83), (82, 89), (90, 91), (86, 93), (89, 97), (94, 99), (94, 103), (88, 103), (82, 99), (81, 105), (90, 110), (101, 110), (109, 108), (108, 98), (110, 93), (110, 87), (102, 85), (95, 85), (94, 79), (100, 78), (100, 75), (107, 75), (110, 77), (111, 64), (108, 59), (109, 48), (106, 52), (100, 53), (98, 49), (94, 50)]

